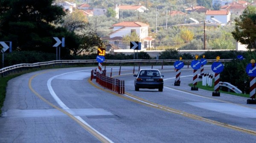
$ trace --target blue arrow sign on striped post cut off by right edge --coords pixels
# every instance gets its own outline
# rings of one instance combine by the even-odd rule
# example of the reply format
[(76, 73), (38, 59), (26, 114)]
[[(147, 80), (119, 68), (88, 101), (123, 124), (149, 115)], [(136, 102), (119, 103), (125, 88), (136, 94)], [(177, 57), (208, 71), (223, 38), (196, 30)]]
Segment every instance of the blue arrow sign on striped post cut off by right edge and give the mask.
[[(246, 73), (250, 76), (250, 98), (247, 99), (247, 104), (256, 104), (255, 96), (256, 96), (256, 65), (255, 60), (252, 59), (250, 64), (246, 66)], [(253, 100), (254, 98), (254, 100)]]

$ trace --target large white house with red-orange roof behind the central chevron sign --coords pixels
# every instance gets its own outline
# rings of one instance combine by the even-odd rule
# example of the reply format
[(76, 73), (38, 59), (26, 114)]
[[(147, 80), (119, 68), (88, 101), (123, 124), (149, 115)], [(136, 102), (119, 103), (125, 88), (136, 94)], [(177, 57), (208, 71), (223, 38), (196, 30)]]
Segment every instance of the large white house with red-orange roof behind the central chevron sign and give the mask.
[(113, 30), (109, 35), (109, 43), (118, 46), (121, 49), (130, 49), (130, 44), (122, 42), (122, 37), (131, 35), (132, 32), (136, 32), (140, 37), (141, 48), (151, 47), (151, 41), (154, 39), (148, 36), (149, 25), (143, 22), (119, 22), (112, 25)]

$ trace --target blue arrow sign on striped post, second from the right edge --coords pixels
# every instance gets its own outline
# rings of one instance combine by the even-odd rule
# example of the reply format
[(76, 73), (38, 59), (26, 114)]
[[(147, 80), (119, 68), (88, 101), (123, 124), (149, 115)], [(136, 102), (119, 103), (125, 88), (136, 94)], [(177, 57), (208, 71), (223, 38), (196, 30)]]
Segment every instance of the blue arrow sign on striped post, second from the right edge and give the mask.
[(219, 82), (220, 82), (220, 73), (224, 70), (224, 65), (221, 62), (218, 62), (220, 56), (216, 57), (217, 62), (212, 63), (212, 71), (215, 73), (214, 77), (214, 92), (212, 92), (212, 96), (220, 96), (219, 92)]

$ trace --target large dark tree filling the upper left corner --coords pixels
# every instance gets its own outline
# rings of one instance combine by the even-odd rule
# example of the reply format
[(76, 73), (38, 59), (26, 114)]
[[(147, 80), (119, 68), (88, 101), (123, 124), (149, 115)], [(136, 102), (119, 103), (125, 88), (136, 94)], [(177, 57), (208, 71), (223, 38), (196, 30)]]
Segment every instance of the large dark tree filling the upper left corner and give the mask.
[(52, 5), (53, 0), (0, 0), (0, 39), (12, 41), (13, 50), (40, 50), (54, 52), (55, 36), (64, 36), (61, 23), (65, 12)]

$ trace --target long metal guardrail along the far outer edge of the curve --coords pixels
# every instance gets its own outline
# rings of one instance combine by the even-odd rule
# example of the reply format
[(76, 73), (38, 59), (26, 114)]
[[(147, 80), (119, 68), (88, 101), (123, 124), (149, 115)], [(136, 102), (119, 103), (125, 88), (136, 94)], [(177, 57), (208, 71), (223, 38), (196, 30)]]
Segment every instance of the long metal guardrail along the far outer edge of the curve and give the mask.
[[(176, 62), (175, 59), (165, 59), (165, 60), (146, 60), (146, 59), (131, 59), (131, 60), (105, 60), (104, 63), (166, 63), (166, 62)], [(192, 60), (182, 60), (184, 64), (189, 65)], [(207, 59), (207, 62), (215, 62), (216, 59)], [(219, 62), (231, 62), (232, 59), (220, 59)], [(1, 76), (8, 76), (12, 72), (19, 72), (23, 68), (35, 68), (35, 67), (42, 67), (42, 66), (50, 66), (50, 65), (61, 65), (61, 64), (81, 64), (81, 63), (97, 63), (96, 60), (55, 60), (49, 62), (38, 62), (33, 64), (16, 64), (9, 67), (4, 67), (0, 69)]]

